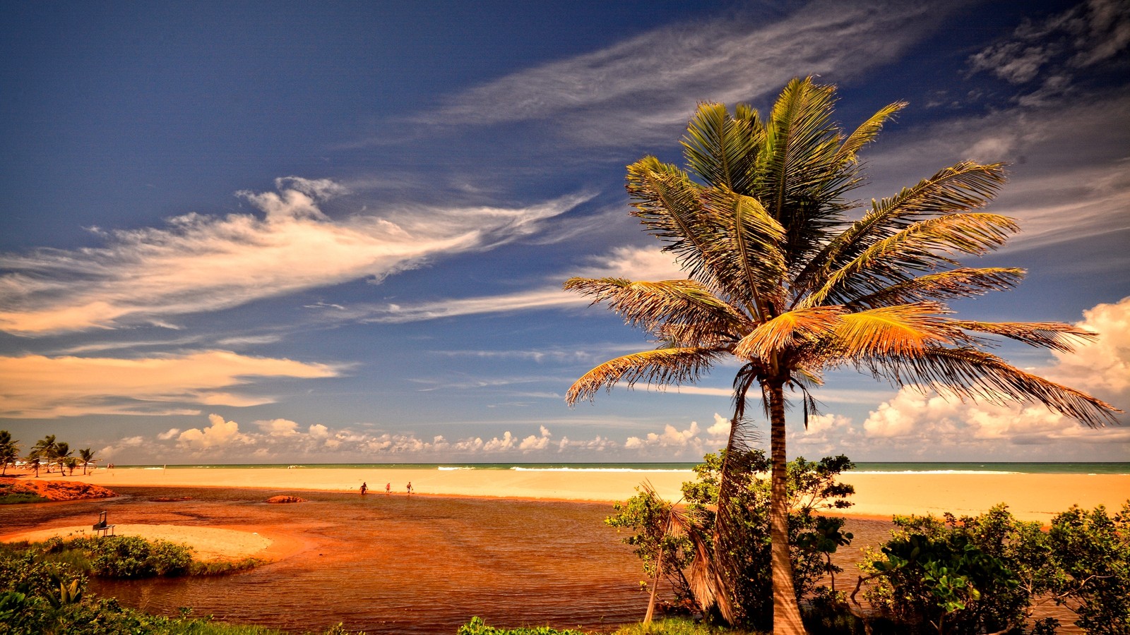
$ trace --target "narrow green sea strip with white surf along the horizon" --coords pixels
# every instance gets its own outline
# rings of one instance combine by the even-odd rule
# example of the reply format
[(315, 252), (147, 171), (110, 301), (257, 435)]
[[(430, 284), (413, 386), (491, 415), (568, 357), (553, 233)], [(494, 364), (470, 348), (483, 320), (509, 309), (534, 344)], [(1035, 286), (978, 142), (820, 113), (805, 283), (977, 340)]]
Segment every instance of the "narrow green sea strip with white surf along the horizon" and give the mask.
[[(206, 470), (319, 468), (319, 469), (406, 469), (406, 470), (532, 470), (532, 471), (608, 471), (651, 472), (689, 471), (695, 463), (303, 463), (303, 464), (183, 464), (183, 466), (115, 466), (115, 469)], [(857, 473), (1025, 473), (1025, 475), (1130, 475), (1130, 462), (1111, 463), (1020, 463), (1020, 462), (859, 462)]]

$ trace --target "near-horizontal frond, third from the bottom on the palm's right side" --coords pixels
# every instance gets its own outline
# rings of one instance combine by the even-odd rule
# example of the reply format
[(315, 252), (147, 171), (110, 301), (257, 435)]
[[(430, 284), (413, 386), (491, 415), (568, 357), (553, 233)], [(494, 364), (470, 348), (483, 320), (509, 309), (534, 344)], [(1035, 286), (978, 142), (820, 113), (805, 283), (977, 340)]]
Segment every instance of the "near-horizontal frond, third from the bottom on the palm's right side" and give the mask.
[(854, 298), (851, 307), (889, 306), (922, 301), (945, 301), (981, 295), (988, 292), (1007, 290), (1024, 278), (1024, 269), (958, 268), (936, 273), (925, 273), (902, 280)]

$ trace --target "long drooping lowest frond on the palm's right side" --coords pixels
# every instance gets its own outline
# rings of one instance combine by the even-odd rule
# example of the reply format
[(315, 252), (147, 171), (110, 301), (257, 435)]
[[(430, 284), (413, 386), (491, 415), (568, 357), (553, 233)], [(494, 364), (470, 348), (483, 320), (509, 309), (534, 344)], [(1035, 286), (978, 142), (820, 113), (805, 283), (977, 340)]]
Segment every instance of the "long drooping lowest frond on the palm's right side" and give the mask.
[(896, 385), (918, 384), (960, 399), (992, 403), (1043, 403), (1090, 427), (1116, 424), (1118, 408), (1078, 390), (1025, 373), (972, 347), (930, 347), (913, 357), (872, 360), (872, 374)]

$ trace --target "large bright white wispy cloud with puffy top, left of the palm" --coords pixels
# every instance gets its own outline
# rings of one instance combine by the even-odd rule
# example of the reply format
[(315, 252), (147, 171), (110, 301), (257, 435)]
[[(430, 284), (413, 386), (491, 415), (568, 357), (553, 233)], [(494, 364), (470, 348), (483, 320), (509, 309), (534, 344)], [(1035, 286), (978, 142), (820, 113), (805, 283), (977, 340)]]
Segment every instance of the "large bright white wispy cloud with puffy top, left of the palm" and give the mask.
[[(136, 323), (302, 289), (381, 280), (444, 254), (488, 250), (537, 230), (588, 199), (524, 208), (403, 207), (329, 218), (345, 193), (327, 181), (278, 180), (278, 192), (241, 192), (260, 215), (189, 214), (166, 227), (105, 233), (107, 246), (0, 254), (0, 330), (34, 336)], [(331, 256), (332, 254), (332, 256)]]

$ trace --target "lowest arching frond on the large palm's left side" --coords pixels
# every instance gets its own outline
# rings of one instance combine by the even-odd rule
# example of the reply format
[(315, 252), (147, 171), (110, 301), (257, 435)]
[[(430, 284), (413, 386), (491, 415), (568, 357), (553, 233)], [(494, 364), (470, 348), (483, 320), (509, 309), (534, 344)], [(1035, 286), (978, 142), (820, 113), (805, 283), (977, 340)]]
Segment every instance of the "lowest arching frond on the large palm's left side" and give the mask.
[(692, 382), (725, 354), (712, 348), (660, 348), (609, 359), (575, 381), (565, 393), (570, 406), (592, 399), (601, 388), (611, 390), (619, 382), (628, 388), (643, 381), (657, 385)]

